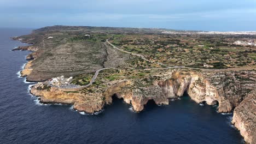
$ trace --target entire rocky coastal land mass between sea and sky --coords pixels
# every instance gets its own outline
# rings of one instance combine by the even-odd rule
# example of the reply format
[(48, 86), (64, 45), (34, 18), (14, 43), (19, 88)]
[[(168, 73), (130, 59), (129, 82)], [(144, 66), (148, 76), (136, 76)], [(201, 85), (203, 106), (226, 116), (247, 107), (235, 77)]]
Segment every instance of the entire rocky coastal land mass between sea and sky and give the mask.
[(94, 113), (123, 99), (136, 112), (187, 93), (233, 112), (232, 124), (256, 143), (256, 34), (154, 28), (52, 26), (12, 38), (32, 51), (20, 73), (40, 103)]

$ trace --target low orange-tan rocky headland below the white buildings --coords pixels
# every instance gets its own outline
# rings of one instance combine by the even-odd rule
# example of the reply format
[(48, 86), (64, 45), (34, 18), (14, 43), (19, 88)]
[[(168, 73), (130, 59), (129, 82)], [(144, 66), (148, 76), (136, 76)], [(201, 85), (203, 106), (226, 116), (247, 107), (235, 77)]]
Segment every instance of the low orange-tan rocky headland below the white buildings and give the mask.
[(74, 91), (61, 91), (56, 87), (49, 87), (39, 82), (34, 85), (30, 91), (32, 94), (40, 97), (40, 103), (61, 103), (74, 105), (74, 109), (87, 113), (100, 111), (104, 106), (101, 97), (95, 94), (83, 94)]

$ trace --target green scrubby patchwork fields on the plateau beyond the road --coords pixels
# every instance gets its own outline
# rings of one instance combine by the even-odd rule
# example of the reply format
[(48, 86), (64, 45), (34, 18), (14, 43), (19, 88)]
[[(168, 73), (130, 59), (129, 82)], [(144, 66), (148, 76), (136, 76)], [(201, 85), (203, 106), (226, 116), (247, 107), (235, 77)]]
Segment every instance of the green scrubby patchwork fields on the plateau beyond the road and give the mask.
[[(246, 40), (243, 35), (117, 34), (110, 43), (170, 65), (204, 68), (203, 65), (207, 64), (211, 65), (209, 68), (217, 69), (255, 65), (255, 46), (248, 48), (233, 44), (241, 39)], [(143, 63), (132, 64), (143, 67)]]

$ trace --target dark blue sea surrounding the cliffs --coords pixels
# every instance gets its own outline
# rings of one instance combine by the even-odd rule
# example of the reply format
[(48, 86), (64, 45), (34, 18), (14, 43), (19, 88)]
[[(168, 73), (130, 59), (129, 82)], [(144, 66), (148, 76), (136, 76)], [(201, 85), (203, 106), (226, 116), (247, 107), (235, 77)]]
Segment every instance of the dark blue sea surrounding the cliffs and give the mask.
[(95, 115), (39, 104), (28, 92), (33, 83), (18, 73), (29, 52), (10, 51), (26, 45), (10, 37), (30, 32), (0, 28), (0, 143), (243, 143), (232, 114), (188, 96), (167, 106), (149, 103), (140, 113), (118, 99)]

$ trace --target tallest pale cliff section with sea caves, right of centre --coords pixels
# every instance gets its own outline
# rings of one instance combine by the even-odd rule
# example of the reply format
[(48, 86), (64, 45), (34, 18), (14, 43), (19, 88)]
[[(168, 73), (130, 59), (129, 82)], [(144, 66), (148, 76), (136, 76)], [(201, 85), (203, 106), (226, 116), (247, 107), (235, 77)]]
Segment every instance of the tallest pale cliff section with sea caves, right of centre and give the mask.
[(232, 110), (229, 100), (220, 96), (217, 88), (199, 73), (175, 72), (171, 79), (160, 81), (159, 85), (167, 98), (181, 97), (187, 91), (190, 98), (196, 103), (219, 104), (219, 112)]

